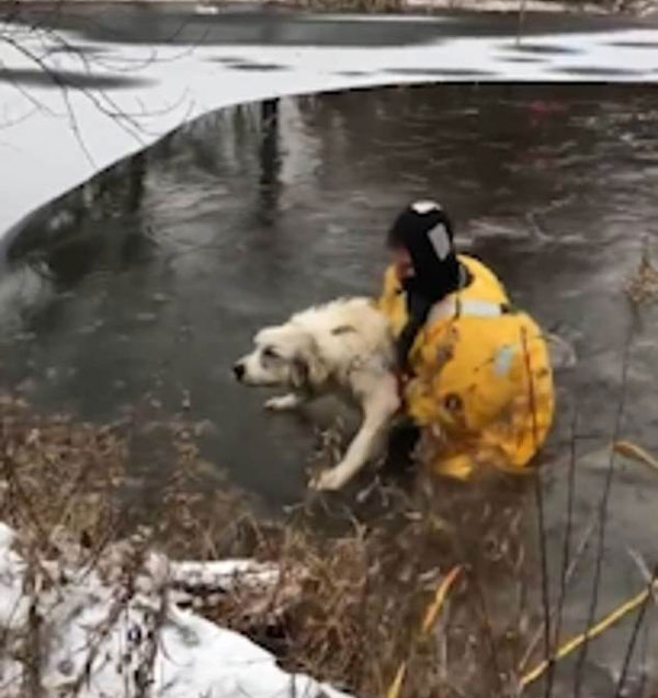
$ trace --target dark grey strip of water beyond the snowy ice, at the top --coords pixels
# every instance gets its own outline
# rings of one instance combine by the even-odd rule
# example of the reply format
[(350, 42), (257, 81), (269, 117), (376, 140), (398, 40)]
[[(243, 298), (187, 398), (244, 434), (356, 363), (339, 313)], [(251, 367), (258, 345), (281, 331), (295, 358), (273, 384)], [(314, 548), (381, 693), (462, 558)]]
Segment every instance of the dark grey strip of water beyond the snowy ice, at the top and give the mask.
[[(518, 12), (442, 11), (409, 13), (404, 22), (371, 13), (338, 15), (262, 3), (208, 3), (214, 13), (198, 13), (189, 2), (116, 3), (94, 1), (0, 4), (0, 19), (30, 26), (75, 32), (84, 41), (123, 44), (207, 46), (406, 46), (463, 36), (511, 36), (519, 31)], [(527, 12), (525, 36), (619, 31), (651, 26), (655, 19), (578, 12)]]

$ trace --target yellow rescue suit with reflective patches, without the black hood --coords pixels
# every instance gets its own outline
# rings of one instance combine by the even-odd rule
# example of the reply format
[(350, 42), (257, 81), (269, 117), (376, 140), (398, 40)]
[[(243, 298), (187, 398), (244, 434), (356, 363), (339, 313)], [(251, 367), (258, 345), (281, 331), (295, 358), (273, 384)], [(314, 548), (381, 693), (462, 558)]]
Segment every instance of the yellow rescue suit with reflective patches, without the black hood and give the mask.
[[(460, 255), (469, 283), (436, 302), (408, 353), (408, 414), (423, 427), (422, 459), (467, 479), (483, 467), (521, 472), (544, 443), (554, 414), (548, 350), (540, 328), (511, 309), (480, 262)], [(408, 321), (395, 268), (379, 307), (396, 336)]]

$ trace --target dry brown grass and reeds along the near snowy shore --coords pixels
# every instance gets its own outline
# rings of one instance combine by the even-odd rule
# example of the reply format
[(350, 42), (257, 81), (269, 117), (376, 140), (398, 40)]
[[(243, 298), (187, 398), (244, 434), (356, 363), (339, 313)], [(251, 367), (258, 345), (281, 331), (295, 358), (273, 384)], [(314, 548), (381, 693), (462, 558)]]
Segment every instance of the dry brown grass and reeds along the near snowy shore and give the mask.
[[(70, 584), (34, 582), (58, 558), (101, 576), (109, 574), (106, 560), (121, 559), (120, 572), (107, 579), (124, 599), (141, 588), (150, 551), (178, 569), (253, 560), (276, 570), (275, 583), (229, 588), (204, 586), (198, 576), (183, 580), (177, 587), (185, 594), (182, 607), (246, 636), (286, 672), (359, 698), (518, 696), (525, 684), (553, 680), (554, 655), (594, 637), (572, 639), (569, 649), (559, 637), (561, 602), (552, 607), (542, 591), (543, 551), (535, 543), (545, 534), (537, 528), (532, 487), (538, 471), (475, 487), (443, 482), (440, 495), (422, 477), (385, 478), (353, 507), (340, 496), (318, 496), (272, 517), (203, 460), (197, 439), (204, 424), (184, 410), (163, 419), (136, 409), (99, 426), (42, 414), (5, 394), (0, 425), (0, 520), (16, 531), (27, 561), (29, 608), (42, 607), (35, 599), (44, 588)], [(145, 458), (163, 464), (162, 477), (148, 487), (138, 474), (152, 466)], [(574, 531), (581, 542), (565, 570), (565, 588), (578, 576), (591, 534)], [(118, 558), (116, 550), (123, 551)], [(593, 629), (602, 633), (632, 610), (646, 609), (655, 577), (648, 583), (632, 607), (597, 618)], [(161, 625), (164, 631), (168, 625)], [(22, 667), (22, 696), (48, 695), (42, 683), (47, 627), (48, 618), (39, 617), (20, 631), (3, 629), (3, 651)], [(89, 675), (93, 652), (84, 664)], [(148, 676), (154, 653), (139, 657), (135, 676)], [(581, 680), (587, 686), (587, 676)]]

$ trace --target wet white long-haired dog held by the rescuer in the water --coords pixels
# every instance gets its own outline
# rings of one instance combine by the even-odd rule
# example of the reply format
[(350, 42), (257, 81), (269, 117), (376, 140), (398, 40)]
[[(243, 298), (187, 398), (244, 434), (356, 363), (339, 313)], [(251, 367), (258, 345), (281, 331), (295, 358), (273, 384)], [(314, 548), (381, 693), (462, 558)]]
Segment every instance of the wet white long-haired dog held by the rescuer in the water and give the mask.
[(334, 300), (261, 330), (256, 348), (235, 366), (249, 386), (281, 386), (288, 393), (265, 403), (291, 410), (328, 392), (349, 396), (363, 412), (361, 428), (343, 459), (311, 482), (339, 490), (371, 460), (400, 407), (394, 343), (386, 318), (367, 298)]

